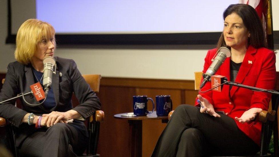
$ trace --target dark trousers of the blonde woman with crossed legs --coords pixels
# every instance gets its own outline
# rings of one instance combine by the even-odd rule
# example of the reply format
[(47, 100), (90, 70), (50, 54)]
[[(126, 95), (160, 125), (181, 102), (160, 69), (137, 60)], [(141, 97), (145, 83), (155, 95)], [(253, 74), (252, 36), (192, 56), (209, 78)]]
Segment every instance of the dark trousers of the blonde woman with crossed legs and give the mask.
[(28, 136), (18, 147), (19, 156), (77, 156), (88, 144), (88, 137), (74, 125), (57, 123)]

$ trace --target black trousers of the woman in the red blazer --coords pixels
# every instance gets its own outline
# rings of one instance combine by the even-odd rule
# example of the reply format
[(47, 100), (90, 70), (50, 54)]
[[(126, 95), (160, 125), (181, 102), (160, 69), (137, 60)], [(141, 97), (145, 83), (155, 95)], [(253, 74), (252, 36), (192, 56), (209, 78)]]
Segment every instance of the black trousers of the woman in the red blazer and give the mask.
[(178, 106), (152, 156), (243, 156), (259, 151), (259, 146), (238, 129), (232, 118), (220, 116), (200, 113), (200, 108), (195, 106)]

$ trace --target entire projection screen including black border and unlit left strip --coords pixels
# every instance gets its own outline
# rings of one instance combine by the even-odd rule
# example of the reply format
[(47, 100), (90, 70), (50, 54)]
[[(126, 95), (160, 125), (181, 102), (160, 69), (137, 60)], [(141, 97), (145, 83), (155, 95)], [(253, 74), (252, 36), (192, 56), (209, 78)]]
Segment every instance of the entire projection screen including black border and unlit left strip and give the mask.
[(238, 0), (8, 0), (11, 36), (47, 21), (59, 44), (216, 44), (224, 10)]

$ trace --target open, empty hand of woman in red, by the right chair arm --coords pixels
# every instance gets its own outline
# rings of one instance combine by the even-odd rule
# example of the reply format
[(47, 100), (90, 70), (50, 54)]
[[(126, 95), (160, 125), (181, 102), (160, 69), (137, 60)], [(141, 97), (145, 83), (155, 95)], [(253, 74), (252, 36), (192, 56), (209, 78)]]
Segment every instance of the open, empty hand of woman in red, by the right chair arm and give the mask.
[(247, 123), (254, 120), (258, 113), (262, 112), (261, 108), (250, 108), (245, 111), (240, 118), (235, 117), (235, 119), (240, 123)]

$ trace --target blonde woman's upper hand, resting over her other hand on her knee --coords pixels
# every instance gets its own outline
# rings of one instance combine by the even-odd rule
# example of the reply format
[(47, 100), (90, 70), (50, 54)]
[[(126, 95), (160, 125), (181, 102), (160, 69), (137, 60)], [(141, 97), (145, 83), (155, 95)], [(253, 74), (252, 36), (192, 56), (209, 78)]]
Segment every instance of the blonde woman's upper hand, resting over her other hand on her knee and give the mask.
[(56, 123), (68, 123), (67, 120), (71, 119), (71, 115), (68, 112), (52, 111), (49, 114), (43, 114), (41, 120), (41, 126), (51, 127)]

